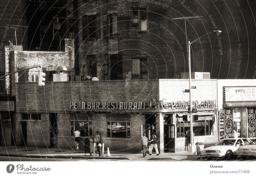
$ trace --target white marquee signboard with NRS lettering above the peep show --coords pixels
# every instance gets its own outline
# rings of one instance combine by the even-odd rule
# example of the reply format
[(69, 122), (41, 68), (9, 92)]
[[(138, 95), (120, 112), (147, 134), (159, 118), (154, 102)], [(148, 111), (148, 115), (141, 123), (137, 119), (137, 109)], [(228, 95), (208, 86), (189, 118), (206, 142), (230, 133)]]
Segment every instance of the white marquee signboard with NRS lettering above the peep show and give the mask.
[(255, 102), (256, 87), (223, 87), (224, 102)]

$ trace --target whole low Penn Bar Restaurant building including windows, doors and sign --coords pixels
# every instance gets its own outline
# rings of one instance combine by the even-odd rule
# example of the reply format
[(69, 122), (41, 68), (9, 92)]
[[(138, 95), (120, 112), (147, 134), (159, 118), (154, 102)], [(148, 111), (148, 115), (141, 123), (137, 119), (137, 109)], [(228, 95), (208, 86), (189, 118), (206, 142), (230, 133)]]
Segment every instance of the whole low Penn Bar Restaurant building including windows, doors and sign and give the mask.
[[(212, 144), (218, 141), (217, 80), (193, 84), (194, 141)], [(188, 80), (72, 81), (46, 82), (42, 89), (17, 82), (16, 143), (25, 139), (32, 147), (70, 148), (78, 128), (83, 140), (99, 131), (110, 150), (139, 152), (141, 132), (156, 133), (160, 153), (184, 150), (190, 128), (184, 85)]]

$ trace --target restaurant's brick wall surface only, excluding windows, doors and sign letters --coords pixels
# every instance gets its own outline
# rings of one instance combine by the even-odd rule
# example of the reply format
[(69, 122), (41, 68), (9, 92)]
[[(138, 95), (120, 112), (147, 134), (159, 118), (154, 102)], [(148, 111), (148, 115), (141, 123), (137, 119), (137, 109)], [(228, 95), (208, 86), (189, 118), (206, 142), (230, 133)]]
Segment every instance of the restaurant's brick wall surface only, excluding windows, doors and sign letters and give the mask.
[[(197, 80), (193, 81), (198, 87), (193, 99), (216, 100), (217, 99), (217, 81), (216, 80)], [(85, 116), (86, 112), (90, 114), (92, 121), (92, 135), (96, 131), (100, 132), (101, 143), (105, 143), (105, 148), (110, 150), (123, 150), (138, 153), (140, 151), (141, 125), (143, 131), (147, 131), (148, 118), (147, 115), (153, 114), (156, 123), (156, 136), (158, 137), (158, 148), (160, 153), (164, 152), (164, 117), (161, 111), (151, 110), (149, 108), (150, 99), (155, 98), (156, 101), (166, 98), (171, 101), (188, 101), (188, 96), (184, 96), (182, 90), (184, 85), (188, 85), (188, 80), (130, 80), (130, 81), (72, 81), (72, 82), (46, 82), (45, 86), (39, 87), (32, 82), (16, 82), (16, 108), (17, 112), (24, 113), (42, 113), (40, 121), (32, 121), (28, 126), (28, 132), (37, 132), (43, 128), (42, 132), (48, 135), (38, 135), (40, 142), (36, 141), (36, 146), (50, 146), (50, 125), (47, 120), (49, 113), (57, 113), (58, 122), (58, 146), (69, 148), (73, 142), (73, 135), (70, 131), (70, 120), (72, 117)], [(51, 93), (51, 94), (48, 94)], [(174, 94), (173, 94), (174, 93)], [(146, 101), (145, 110), (70, 110), (70, 101), (84, 102), (139, 102)], [(102, 105), (100, 104), (100, 108)], [(173, 113), (172, 110), (166, 110), (167, 113)], [(202, 110), (203, 111), (203, 110)], [(213, 109), (208, 110), (214, 114)], [(187, 110), (179, 110), (177, 112), (182, 117), (188, 114)], [(124, 114), (131, 117), (131, 138), (110, 138), (107, 136), (107, 114)], [(176, 113), (175, 113), (176, 114)], [(204, 113), (207, 114), (207, 113)], [(22, 119), (21, 119), (22, 121)], [(172, 124), (176, 124), (173, 118)], [(217, 121), (217, 120), (216, 120)], [(28, 121), (29, 123), (30, 121)], [(16, 127), (20, 127), (18, 114), (15, 119)], [(29, 124), (28, 124), (29, 125)], [(36, 130), (34, 130), (36, 126)], [(39, 126), (39, 127), (37, 127)], [(176, 128), (176, 127), (175, 127)], [(20, 142), (20, 128), (16, 128), (16, 142)], [(177, 138), (177, 130), (174, 130), (175, 150), (180, 151), (184, 148), (185, 138)], [(29, 136), (29, 138), (31, 138)], [(84, 137), (83, 137), (84, 138)], [(214, 126), (213, 135), (196, 137), (195, 141), (204, 141), (205, 144), (213, 143), (218, 140), (217, 125)], [(29, 146), (34, 146), (29, 142)]]

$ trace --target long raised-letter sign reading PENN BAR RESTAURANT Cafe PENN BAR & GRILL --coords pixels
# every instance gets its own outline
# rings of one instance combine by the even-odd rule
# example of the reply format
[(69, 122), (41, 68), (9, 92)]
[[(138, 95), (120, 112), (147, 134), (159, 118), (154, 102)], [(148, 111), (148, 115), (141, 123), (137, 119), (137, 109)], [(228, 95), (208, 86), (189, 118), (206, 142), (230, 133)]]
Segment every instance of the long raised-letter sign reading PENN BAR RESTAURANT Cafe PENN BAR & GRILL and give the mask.
[[(149, 102), (70, 102), (69, 109), (74, 110), (145, 110), (148, 107), (154, 110), (162, 109), (183, 109), (188, 110), (189, 101), (165, 102), (166, 99), (156, 102), (151, 99)], [(217, 100), (204, 100), (202, 102), (192, 101), (193, 108), (216, 108)]]

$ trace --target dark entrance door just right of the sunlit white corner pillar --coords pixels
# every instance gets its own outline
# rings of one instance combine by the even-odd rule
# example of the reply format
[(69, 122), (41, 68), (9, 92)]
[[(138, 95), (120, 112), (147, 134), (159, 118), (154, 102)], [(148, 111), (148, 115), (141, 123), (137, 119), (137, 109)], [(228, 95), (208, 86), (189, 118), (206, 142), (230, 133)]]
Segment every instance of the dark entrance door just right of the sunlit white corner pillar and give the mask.
[(164, 152), (175, 152), (175, 125), (164, 125)]

